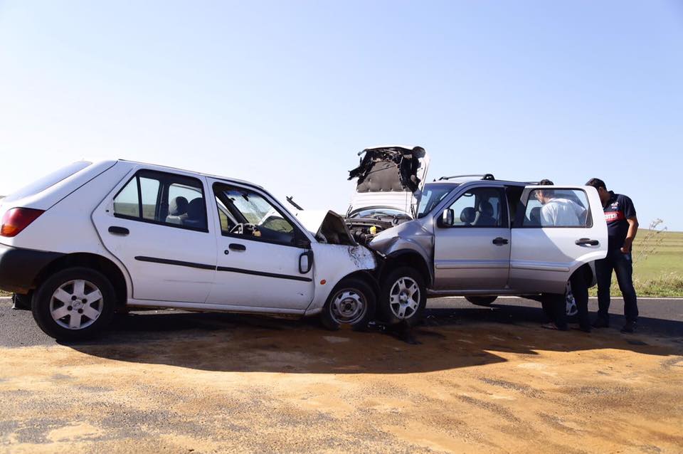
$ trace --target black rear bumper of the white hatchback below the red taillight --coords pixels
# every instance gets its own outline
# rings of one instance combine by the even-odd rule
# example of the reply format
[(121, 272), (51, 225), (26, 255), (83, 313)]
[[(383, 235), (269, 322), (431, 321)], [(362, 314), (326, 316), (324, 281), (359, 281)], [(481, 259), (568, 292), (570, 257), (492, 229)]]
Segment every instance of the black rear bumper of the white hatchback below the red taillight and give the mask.
[(0, 289), (28, 293), (36, 287), (38, 273), (64, 254), (13, 248), (0, 243)]

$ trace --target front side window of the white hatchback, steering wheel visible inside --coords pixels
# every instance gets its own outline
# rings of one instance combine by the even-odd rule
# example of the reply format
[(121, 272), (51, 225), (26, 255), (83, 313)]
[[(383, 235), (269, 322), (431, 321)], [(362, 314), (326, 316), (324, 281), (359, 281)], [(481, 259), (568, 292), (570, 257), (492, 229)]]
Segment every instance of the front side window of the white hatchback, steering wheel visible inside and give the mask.
[(223, 235), (294, 244), (295, 227), (258, 192), (227, 184), (214, 185), (213, 192)]

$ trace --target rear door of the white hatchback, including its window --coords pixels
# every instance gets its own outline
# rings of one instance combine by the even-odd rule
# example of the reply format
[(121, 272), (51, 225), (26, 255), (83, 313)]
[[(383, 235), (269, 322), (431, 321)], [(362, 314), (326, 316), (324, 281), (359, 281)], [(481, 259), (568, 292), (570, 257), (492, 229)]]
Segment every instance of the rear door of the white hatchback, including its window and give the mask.
[(92, 214), (127, 268), (136, 300), (205, 302), (216, 275), (206, 179), (139, 168)]

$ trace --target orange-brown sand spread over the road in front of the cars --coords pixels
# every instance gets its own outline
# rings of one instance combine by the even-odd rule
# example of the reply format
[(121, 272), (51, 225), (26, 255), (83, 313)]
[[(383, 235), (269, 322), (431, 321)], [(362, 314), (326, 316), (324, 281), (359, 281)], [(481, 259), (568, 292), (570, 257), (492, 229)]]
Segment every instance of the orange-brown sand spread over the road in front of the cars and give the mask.
[(237, 320), (1, 349), (0, 451), (683, 450), (681, 339), (477, 323), (413, 345)]

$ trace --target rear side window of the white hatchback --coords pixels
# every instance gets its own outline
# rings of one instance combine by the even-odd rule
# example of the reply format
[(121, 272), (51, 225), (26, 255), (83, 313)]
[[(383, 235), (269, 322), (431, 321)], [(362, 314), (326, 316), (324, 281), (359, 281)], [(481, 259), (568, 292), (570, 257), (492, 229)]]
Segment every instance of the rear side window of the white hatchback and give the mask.
[(166, 172), (138, 171), (115, 196), (114, 216), (208, 231), (201, 181)]

